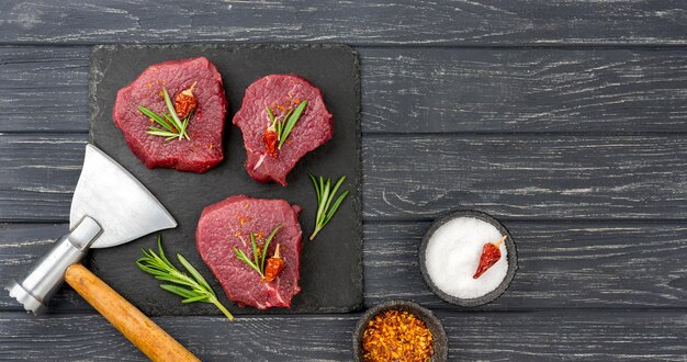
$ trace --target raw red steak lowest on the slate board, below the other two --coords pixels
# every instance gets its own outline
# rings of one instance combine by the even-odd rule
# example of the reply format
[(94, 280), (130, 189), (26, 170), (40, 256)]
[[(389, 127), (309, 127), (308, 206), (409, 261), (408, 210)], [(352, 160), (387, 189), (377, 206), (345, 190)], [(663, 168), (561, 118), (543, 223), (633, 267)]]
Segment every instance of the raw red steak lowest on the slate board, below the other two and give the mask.
[[(229, 299), (239, 306), (250, 305), (259, 309), (291, 306), (291, 298), (301, 291), (300, 212), (300, 206), (292, 206), (284, 200), (245, 195), (230, 196), (203, 210), (195, 230), (198, 251)], [(285, 267), (268, 283), (236, 257), (234, 247), (252, 260), (250, 234), (256, 234), (257, 244), (262, 246), (280, 225), (282, 228), (270, 242), (267, 258), (279, 245)]]

